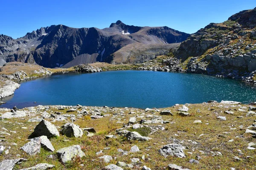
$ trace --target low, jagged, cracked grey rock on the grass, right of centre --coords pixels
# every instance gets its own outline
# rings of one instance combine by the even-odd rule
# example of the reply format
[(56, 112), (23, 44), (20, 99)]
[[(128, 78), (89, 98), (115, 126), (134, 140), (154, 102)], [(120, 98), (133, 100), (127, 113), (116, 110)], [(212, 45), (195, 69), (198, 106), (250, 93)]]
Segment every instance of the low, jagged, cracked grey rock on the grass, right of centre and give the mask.
[(167, 157), (167, 156), (177, 156), (179, 158), (185, 158), (185, 153), (183, 152), (183, 146), (180, 144), (168, 144), (163, 146), (159, 153), (160, 155)]

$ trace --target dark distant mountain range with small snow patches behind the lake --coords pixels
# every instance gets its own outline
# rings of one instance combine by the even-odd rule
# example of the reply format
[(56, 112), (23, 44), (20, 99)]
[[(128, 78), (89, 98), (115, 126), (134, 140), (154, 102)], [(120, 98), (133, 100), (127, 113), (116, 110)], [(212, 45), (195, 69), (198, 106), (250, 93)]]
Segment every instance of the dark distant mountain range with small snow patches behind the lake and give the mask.
[(52, 25), (17, 39), (0, 34), (0, 65), (20, 61), (67, 68), (145, 62), (178, 47), (189, 35), (166, 26), (128, 26), (120, 20), (104, 29)]

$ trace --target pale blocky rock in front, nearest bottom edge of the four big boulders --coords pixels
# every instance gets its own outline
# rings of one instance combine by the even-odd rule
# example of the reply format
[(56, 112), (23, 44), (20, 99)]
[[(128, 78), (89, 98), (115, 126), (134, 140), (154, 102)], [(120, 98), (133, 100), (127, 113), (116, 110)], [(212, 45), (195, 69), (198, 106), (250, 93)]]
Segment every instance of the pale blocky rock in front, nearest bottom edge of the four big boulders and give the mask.
[(81, 150), (79, 145), (73, 145), (69, 147), (61, 148), (57, 150), (58, 158), (61, 162), (66, 163), (67, 161), (71, 161), (71, 159), (75, 156), (83, 157), (85, 156), (84, 152)]

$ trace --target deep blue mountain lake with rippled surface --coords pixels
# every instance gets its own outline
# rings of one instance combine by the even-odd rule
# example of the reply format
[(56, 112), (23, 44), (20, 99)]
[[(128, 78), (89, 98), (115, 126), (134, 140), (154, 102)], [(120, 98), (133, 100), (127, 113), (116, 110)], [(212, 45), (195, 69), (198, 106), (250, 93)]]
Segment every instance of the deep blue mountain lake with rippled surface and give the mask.
[[(66, 73), (20, 82), (15, 94), (0, 107), (86, 105), (164, 108), (208, 100), (256, 100), (256, 88), (244, 82), (202, 74), (158, 71), (105, 71)], [(33, 102), (37, 102), (34, 104)]]

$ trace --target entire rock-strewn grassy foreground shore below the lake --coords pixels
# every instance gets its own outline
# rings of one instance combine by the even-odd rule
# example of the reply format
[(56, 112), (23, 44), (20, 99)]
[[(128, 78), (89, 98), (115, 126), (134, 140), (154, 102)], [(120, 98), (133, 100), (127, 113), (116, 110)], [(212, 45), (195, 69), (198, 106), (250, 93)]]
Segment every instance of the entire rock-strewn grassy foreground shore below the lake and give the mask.
[(233, 101), (0, 108), (0, 169), (253, 169), (255, 111)]

